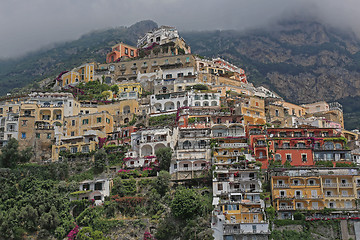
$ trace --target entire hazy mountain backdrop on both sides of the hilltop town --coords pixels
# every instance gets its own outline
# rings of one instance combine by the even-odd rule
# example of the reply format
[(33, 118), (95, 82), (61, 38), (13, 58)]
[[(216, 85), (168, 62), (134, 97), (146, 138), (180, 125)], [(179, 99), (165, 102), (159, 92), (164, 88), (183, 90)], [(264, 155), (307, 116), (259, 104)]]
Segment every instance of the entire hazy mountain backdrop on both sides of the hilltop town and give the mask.
[[(2, 60), (0, 95), (85, 62), (104, 62), (112, 45), (120, 41), (135, 45), (139, 36), (155, 27), (153, 21), (141, 21), (92, 32), (20, 59)], [(360, 40), (353, 33), (316, 21), (287, 20), (247, 32), (180, 34), (193, 53), (229, 60), (246, 70), (250, 82), (269, 87), (290, 102), (339, 101), (345, 127), (360, 128)]]

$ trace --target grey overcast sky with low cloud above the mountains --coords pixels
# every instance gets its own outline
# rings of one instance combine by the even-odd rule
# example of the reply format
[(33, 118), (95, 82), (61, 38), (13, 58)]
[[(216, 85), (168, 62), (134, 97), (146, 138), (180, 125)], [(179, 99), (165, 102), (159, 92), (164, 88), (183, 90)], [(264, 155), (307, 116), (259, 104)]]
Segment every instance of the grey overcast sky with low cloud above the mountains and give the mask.
[(0, 58), (147, 19), (180, 31), (244, 30), (293, 15), (360, 33), (359, 0), (1, 0)]

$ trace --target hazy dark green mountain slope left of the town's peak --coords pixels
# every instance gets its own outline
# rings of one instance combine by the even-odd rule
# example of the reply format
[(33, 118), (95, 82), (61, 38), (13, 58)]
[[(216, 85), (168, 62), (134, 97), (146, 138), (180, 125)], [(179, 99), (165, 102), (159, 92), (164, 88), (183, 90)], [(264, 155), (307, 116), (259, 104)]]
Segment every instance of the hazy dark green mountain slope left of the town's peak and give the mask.
[(141, 21), (130, 27), (91, 32), (78, 40), (57, 44), (18, 59), (1, 60), (0, 96), (83, 63), (104, 62), (113, 45), (121, 41), (136, 45), (140, 36), (156, 27), (153, 21)]

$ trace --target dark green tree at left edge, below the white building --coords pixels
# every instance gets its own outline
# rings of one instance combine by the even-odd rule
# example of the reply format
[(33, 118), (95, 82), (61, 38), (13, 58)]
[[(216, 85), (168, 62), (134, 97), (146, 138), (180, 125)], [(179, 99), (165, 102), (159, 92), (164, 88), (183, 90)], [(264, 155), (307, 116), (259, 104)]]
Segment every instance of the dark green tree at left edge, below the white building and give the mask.
[(31, 148), (26, 148), (19, 152), (19, 142), (15, 138), (10, 138), (1, 150), (0, 167), (14, 168), (19, 162), (28, 162), (31, 156)]

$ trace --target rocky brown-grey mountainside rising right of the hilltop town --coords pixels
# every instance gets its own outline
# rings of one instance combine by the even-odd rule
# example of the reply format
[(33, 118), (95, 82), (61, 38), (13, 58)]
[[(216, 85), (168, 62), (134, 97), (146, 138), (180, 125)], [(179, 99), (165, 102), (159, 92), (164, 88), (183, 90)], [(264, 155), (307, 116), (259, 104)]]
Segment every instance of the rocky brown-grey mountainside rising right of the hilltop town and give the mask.
[(360, 40), (314, 21), (282, 21), (251, 32), (186, 32), (192, 51), (244, 68), (250, 82), (297, 104), (344, 106), (346, 128), (360, 127)]

